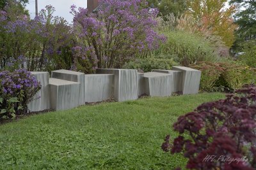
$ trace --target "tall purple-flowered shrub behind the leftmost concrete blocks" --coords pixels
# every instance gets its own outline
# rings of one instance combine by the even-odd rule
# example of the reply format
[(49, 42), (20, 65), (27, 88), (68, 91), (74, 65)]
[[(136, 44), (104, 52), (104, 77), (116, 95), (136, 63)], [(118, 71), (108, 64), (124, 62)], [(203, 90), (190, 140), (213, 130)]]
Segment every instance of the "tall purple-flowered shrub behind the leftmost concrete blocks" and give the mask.
[[(74, 45), (67, 21), (53, 17), (51, 5), (30, 20), (18, 4), (13, 1), (0, 10), (0, 69), (6, 70), (9, 65), (29, 71), (70, 69)], [(15, 64), (20, 56), (22, 64)]]

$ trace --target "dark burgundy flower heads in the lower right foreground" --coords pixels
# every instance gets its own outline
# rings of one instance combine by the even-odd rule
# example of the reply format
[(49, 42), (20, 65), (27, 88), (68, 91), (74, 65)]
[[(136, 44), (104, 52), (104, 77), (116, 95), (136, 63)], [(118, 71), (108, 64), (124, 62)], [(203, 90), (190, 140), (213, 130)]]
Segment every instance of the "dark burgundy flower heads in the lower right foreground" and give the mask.
[(179, 137), (166, 136), (162, 149), (184, 154), (188, 169), (255, 169), (255, 116), (256, 87), (246, 85), (179, 117)]

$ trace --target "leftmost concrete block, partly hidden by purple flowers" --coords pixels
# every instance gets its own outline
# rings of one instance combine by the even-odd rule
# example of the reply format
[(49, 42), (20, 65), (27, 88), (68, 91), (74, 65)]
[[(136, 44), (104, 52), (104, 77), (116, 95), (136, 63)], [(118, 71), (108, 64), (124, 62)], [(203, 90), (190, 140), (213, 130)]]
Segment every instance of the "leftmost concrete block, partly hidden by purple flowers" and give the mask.
[(49, 73), (48, 72), (31, 72), (37, 81), (40, 81), (42, 88), (34, 96), (33, 101), (28, 104), (28, 111), (43, 111), (50, 108), (49, 97)]

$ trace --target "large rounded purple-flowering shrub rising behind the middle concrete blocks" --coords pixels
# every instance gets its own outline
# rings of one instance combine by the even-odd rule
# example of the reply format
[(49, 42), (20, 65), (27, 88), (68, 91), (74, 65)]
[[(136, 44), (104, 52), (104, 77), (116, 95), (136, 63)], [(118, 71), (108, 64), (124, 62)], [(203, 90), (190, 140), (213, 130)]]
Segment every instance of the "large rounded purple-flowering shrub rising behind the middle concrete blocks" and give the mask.
[[(136, 55), (159, 47), (165, 37), (157, 34), (156, 15), (148, 12), (145, 0), (103, 0), (97, 13), (71, 6), (74, 34), (78, 45), (74, 51), (74, 69), (79, 71), (82, 60), (97, 67), (120, 68)], [(80, 50), (80, 52), (77, 52)], [(84, 64), (86, 66), (88, 64)], [(81, 64), (80, 64), (81, 67)], [(87, 69), (86, 69), (87, 70)]]

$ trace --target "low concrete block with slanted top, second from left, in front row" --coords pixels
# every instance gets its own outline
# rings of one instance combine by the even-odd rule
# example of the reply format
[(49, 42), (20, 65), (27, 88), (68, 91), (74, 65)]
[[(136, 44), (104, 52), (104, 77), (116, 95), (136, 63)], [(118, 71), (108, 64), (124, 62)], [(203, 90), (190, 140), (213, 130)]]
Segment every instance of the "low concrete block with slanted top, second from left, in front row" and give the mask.
[(79, 106), (80, 83), (50, 78), (49, 86), (52, 110), (68, 110)]

